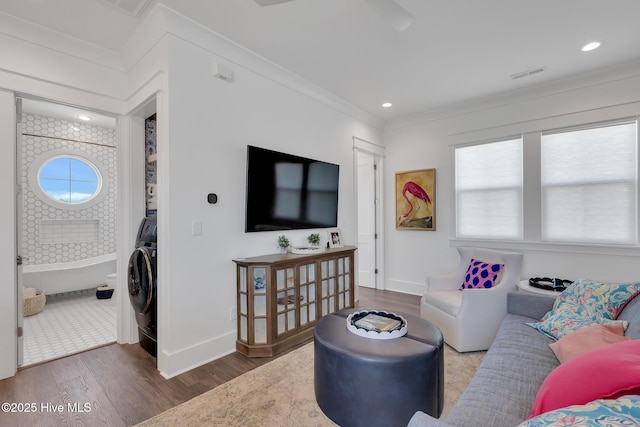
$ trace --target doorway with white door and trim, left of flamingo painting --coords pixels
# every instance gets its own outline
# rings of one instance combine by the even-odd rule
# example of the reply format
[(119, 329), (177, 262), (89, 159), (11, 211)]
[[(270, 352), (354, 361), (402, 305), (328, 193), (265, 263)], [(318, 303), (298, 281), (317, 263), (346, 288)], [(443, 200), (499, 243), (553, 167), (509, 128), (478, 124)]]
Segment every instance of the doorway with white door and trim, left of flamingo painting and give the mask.
[(381, 223), (380, 164), (381, 155), (373, 144), (354, 138), (356, 166), (356, 200), (358, 214), (358, 285), (383, 289), (380, 283)]

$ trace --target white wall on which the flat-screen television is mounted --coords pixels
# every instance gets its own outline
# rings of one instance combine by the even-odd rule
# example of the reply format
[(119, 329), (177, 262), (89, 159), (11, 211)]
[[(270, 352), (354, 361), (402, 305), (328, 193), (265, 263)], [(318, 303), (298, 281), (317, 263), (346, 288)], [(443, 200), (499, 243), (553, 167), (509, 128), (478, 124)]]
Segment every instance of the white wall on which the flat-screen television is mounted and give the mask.
[[(209, 45), (177, 37), (168, 44), (168, 138), (158, 141), (158, 361), (172, 376), (235, 349), (232, 260), (275, 253), (283, 234), (244, 232), (246, 146), (339, 164), (338, 225), (355, 244), (352, 137), (379, 140), (381, 132), (219, 57)], [(213, 76), (214, 62), (233, 70), (233, 82)], [(208, 193), (218, 195), (217, 204), (207, 204)], [(201, 236), (192, 235), (193, 221), (202, 222)], [(302, 245), (311, 232), (284, 234)]]

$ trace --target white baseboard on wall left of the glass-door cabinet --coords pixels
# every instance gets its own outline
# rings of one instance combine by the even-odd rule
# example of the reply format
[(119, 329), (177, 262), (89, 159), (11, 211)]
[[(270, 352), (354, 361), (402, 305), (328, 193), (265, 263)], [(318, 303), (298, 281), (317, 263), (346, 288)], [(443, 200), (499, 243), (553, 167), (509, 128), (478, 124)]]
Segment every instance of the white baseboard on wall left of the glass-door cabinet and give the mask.
[(158, 370), (164, 378), (173, 378), (198, 366), (236, 351), (236, 331), (212, 338), (194, 346), (169, 353), (158, 349)]

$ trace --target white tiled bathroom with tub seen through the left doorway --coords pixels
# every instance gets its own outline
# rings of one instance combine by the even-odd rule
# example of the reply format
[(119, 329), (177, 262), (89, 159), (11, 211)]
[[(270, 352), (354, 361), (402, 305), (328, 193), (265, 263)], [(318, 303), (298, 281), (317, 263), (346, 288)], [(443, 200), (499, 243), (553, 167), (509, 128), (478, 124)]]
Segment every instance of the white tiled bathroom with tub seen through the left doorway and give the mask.
[(113, 117), (19, 101), (18, 245), (27, 297), (19, 365), (29, 366), (116, 341), (117, 137)]

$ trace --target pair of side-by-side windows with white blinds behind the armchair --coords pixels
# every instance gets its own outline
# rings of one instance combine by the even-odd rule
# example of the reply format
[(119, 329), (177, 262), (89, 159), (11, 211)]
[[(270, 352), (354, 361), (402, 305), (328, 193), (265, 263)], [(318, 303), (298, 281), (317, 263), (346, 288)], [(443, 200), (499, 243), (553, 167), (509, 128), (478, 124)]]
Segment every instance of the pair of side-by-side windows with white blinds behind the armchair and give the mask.
[(455, 239), (637, 254), (638, 145), (633, 117), (453, 146)]

